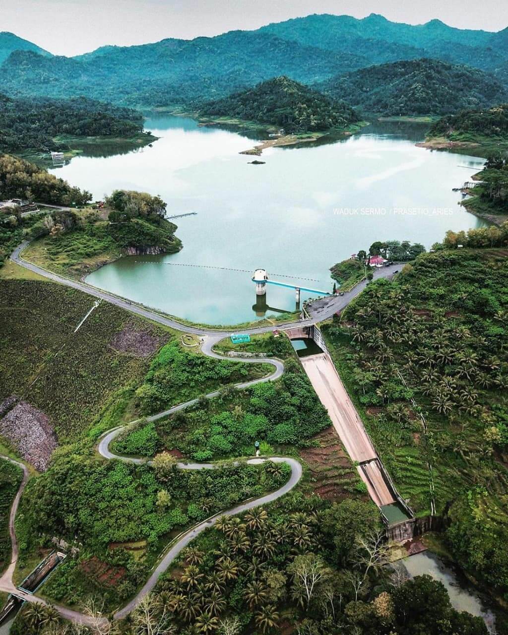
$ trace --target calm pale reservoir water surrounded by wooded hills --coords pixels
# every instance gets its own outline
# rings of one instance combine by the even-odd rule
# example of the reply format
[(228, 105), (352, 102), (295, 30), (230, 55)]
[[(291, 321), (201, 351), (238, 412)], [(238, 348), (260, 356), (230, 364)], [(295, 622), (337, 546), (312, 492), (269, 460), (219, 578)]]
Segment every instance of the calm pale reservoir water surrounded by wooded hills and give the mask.
[[(268, 287), (267, 305), (255, 307), (257, 267), (280, 281), (330, 291), (331, 265), (373, 241), (429, 248), (448, 229), (482, 224), (458, 205), (460, 192), (452, 188), (483, 160), (415, 147), (421, 126), (376, 123), (346, 140), (271, 148), (261, 157), (239, 154), (255, 145), (246, 134), (192, 119), (162, 116), (145, 127), (161, 137), (152, 147), (79, 156), (53, 172), (95, 199), (117, 188), (143, 190), (160, 194), (168, 215), (197, 212), (175, 220), (180, 253), (121, 258), (87, 281), (198, 323), (294, 311), (294, 291), (275, 286)], [(265, 164), (250, 164), (256, 158)]]

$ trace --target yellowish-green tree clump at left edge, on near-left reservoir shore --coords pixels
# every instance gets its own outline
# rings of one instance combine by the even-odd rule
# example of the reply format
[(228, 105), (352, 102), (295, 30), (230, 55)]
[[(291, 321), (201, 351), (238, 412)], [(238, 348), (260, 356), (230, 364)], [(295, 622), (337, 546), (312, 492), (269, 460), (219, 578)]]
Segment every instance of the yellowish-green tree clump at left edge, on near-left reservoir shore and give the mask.
[(0, 192), (5, 198), (53, 205), (79, 206), (91, 200), (90, 192), (71, 187), (63, 178), (10, 154), (0, 154)]

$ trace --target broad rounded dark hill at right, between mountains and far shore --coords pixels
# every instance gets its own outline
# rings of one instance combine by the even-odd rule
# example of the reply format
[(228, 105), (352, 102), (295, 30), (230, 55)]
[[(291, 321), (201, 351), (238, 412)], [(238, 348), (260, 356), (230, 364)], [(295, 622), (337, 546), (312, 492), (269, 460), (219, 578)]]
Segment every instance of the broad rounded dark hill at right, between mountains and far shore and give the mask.
[(384, 115), (448, 114), (508, 98), (507, 89), (482, 70), (429, 59), (371, 66), (319, 87), (332, 97), (347, 95), (365, 112)]

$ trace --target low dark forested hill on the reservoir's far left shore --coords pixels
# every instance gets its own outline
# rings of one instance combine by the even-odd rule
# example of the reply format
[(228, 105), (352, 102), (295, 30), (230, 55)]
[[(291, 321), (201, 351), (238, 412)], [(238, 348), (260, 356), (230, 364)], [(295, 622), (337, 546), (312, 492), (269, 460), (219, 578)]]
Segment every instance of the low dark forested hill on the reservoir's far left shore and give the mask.
[(64, 150), (55, 137), (133, 137), (143, 132), (137, 110), (96, 102), (86, 97), (67, 100), (0, 94), (0, 152)]

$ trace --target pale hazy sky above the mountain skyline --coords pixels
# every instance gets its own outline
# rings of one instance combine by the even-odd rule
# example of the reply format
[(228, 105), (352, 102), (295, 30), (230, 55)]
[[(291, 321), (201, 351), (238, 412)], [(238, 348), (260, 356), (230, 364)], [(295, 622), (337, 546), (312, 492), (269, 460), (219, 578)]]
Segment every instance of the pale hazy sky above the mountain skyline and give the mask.
[(411, 24), (439, 18), (462, 29), (491, 31), (508, 25), (506, 0), (0, 0), (0, 9), (0, 30), (57, 55), (257, 29), (309, 13), (358, 18), (381, 13)]

